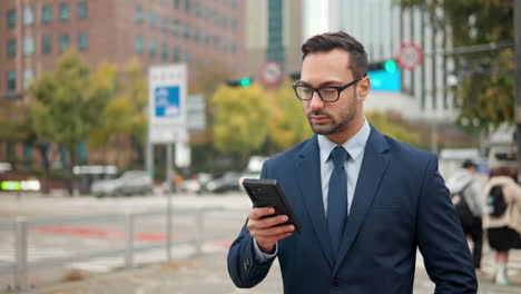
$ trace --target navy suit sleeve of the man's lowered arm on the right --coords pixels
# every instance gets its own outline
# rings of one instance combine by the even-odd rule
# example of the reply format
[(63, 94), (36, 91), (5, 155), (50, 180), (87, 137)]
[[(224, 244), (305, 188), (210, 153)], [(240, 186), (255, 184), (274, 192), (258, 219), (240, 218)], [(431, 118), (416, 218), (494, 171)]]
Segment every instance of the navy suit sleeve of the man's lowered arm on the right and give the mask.
[(417, 204), (416, 239), (435, 293), (476, 293), (472, 257), (441, 175), (429, 158)]

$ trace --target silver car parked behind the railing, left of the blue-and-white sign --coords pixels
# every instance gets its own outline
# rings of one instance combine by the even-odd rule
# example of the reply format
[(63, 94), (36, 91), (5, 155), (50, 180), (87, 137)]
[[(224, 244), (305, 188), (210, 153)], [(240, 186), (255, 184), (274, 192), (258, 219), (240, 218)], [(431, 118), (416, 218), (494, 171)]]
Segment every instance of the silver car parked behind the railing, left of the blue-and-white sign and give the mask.
[(129, 170), (119, 178), (97, 180), (91, 186), (92, 194), (104, 196), (132, 196), (153, 193), (153, 179), (146, 171)]

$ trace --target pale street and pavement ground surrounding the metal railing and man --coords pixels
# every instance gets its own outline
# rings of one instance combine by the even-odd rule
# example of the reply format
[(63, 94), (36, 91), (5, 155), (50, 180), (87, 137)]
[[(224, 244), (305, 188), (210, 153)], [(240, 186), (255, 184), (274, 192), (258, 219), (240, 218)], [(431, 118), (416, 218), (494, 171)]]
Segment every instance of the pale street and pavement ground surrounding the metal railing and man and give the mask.
[[(0, 194), (0, 219), (17, 216), (31, 218), (56, 216), (87, 216), (119, 214), (128, 210), (147, 210), (166, 207), (165, 196), (132, 198), (95, 198)], [(226, 268), (227, 248), (240, 228), (249, 199), (242, 193), (226, 195), (174, 195), (175, 209), (195, 207), (222, 207), (205, 215), (205, 232), (217, 236), (203, 244), (203, 255), (196, 256), (193, 245), (173, 248), (173, 261), (166, 262), (164, 248), (140, 252), (136, 255), (132, 270), (121, 270), (122, 256), (97, 258), (88, 262), (67, 264), (61, 267), (31, 271), (29, 281), (35, 293), (282, 293), (278, 265), (275, 264), (268, 277), (255, 290), (237, 290), (230, 282)], [(184, 239), (194, 233), (193, 215), (174, 215), (174, 239)], [(98, 248), (110, 248), (124, 243), (124, 226), (112, 223), (78, 223), (51, 225), (29, 231), (29, 262), (40, 258), (86, 253)], [(149, 244), (164, 241), (165, 218), (158, 215), (136, 219), (134, 241)], [(0, 232), (0, 266), (14, 259), (12, 232)], [(479, 293), (521, 293), (521, 251), (511, 253), (509, 274), (517, 286), (495, 286), (493, 253), (488, 246), (483, 252), (483, 272), (480, 276)], [(414, 293), (432, 293), (434, 285), (427, 278), (421, 255), (417, 255)], [(0, 276), (0, 293), (12, 293), (11, 275)]]

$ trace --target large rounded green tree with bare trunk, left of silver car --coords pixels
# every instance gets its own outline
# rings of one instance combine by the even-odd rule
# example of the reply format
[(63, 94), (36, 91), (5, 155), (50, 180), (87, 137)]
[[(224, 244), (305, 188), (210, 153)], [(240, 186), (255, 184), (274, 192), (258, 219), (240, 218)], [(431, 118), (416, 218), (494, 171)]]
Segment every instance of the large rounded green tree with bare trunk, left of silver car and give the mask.
[(76, 51), (66, 52), (56, 71), (45, 72), (33, 81), (30, 94), (32, 127), (40, 141), (55, 141), (68, 151), (67, 187), (73, 194), (72, 167), (77, 147), (98, 126), (99, 109), (106, 105), (100, 91), (89, 91), (89, 68)]

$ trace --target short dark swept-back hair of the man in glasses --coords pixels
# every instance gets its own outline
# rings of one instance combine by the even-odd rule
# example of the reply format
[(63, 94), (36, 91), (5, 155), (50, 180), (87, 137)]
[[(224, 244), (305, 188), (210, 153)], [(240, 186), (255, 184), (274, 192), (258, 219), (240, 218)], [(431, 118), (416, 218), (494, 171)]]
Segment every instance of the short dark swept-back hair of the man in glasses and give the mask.
[(367, 76), (367, 53), (364, 46), (346, 32), (326, 32), (316, 35), (302, 46), (302, 60), (308, 53), (328, 52), (333, 49), (343, 49), (350, 55), (350, 69), (355, 79)]

